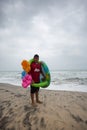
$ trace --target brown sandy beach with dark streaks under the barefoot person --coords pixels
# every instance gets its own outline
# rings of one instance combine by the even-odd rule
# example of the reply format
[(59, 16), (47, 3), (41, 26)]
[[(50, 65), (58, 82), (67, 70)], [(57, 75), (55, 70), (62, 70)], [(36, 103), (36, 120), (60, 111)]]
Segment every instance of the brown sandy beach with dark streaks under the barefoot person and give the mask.
[(33, 107), (29, 88), (0, 83), (0, 130), (87, 129), (87, 92), (40, 89), (39, 98)]

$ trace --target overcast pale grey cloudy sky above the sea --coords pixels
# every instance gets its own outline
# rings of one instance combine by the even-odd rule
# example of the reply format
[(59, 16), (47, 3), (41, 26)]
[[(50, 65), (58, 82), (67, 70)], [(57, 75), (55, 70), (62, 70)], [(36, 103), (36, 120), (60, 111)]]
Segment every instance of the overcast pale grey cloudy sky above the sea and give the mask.
[(87, 69), (87, 0), (0, 0), (0, 71), (39, 54), (50, 70)]

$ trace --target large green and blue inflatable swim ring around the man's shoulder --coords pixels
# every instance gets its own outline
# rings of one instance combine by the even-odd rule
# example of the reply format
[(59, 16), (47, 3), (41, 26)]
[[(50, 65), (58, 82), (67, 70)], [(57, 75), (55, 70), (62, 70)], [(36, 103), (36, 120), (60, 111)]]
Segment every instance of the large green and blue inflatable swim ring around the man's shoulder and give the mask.
[[(31, 64), (33, 61), (34, 60), (31, 59), (29, 61), (29, 63)], [(40, 75), (40, 83), (33, 83), (32, 86), (46, 88), (50, 85), (50, 81), (51, 81), (50, 71), (45, 62), (43, 62), (43, 61), (39, 61), (39, 62), (41, 63), (42, 71), (46, 78), (45, 78), (45, 80), (43, 80), (43, 76)]]

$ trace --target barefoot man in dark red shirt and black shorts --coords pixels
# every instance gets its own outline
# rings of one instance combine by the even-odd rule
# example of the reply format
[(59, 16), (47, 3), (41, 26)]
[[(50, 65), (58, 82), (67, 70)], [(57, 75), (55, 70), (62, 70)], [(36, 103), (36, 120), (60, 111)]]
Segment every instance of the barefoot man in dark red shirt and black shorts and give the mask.
[[(33, 79), (33, 83), (40, 83), (40, 74), (42, 73), (42, 75), (44, 76), (43, 72), (42, 72), (42, 68), (41, 68), (41, 63), (39, 62), (39, 55), (35, 54), (34, 55), (34, 61), (31, 63), (31, 71), (30, 74), (32, 76)], [(45, 78), (45, 76), (44, 76)], [(30, 94), (31, 94), (31, 101), (32, 101), (32, 105), (36, 106), (35, 101), (34, 101), (34, 95), (36, 96), (36, 102), (37, 103), (42, 103), (39, 100), (39, 87), (33, 87), (32, 85), (30, 86), (31, 90), (30, 90)]]

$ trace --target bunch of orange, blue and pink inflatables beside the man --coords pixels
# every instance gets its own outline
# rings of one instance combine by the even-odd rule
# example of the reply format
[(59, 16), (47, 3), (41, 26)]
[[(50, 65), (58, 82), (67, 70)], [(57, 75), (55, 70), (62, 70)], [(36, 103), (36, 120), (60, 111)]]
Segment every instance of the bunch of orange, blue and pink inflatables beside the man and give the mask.
[(32, 77), (28, 74), (31, 70), (30, 63), (27, 60), (21, 62), (23, 72), (22, 72), (22, 86), (27, 88), (32, 83)]

